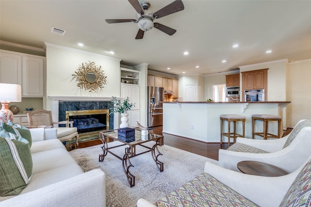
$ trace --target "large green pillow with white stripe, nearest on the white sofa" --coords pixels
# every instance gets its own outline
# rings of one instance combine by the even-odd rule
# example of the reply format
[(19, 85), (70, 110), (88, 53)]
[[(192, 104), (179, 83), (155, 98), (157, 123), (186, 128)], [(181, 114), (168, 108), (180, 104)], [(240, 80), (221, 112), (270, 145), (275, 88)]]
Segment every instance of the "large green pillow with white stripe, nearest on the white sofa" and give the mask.
[(29, 144), (0, 137), (0, 196), (18, 195), (29, 183), (32, 171)]

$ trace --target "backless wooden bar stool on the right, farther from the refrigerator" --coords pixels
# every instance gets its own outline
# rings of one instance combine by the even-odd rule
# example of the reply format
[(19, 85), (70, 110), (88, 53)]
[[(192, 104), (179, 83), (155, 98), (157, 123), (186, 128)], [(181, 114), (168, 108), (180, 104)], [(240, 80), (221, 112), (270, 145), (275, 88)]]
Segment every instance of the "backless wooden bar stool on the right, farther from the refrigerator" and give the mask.
[[(265, 114), (253, 114), (253, 139), (255, 138), (255, 135), (263, 137), (264, 140), (267, 138), (280, 138), (281, 134), (281, 116), (276, 115), (265, 115)], [(255, 132), (255, 121), (261, 120), (263, 121), (263, 132)], [(268, 133), (268, 122), (269, 121), (277, 121), (277, 135)]]

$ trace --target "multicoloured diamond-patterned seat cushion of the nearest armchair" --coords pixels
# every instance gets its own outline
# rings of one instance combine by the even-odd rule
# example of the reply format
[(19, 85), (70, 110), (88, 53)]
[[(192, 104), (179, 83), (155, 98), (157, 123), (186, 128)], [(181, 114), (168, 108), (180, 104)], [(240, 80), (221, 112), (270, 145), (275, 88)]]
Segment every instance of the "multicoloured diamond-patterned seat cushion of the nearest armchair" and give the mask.
[(258, 207), (213, 176), (202, 173), (155, 203), (157, 207)]

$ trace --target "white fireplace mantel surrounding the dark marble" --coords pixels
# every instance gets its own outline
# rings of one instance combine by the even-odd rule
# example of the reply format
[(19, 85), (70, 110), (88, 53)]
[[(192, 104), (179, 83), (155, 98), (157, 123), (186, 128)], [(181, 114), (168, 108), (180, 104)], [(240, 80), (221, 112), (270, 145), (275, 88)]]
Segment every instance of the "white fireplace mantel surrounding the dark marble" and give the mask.
[[(112, 97), (99, 96), (49, 96), (52, 99), (52, 118), (53, 121), (58, 122), (58, 111), (60, 101), (110, 101)], [(117, 97), (120, 98), (120, 97)], [(121, 98), (120, 98), (121, 99)], [(119, 126), (119, 113), (114, 113), (113, 119), (114, 127)], [(57, 126), (54, 126), (57, 127)]]

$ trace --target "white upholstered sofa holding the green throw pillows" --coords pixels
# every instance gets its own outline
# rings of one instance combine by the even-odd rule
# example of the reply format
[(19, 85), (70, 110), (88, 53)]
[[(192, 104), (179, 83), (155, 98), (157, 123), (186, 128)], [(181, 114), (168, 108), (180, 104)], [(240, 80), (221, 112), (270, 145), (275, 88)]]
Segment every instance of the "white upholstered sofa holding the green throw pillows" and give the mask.
[(1, 207), (104, 207), (105, 175), (84, 173), (57, 139), (56, 128), (32, 128), (33, 174), (19, 195), (0, 196)]

